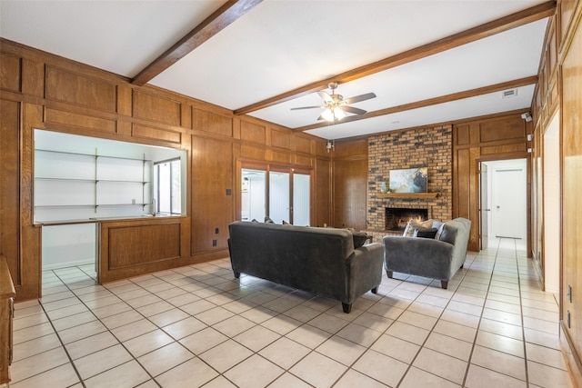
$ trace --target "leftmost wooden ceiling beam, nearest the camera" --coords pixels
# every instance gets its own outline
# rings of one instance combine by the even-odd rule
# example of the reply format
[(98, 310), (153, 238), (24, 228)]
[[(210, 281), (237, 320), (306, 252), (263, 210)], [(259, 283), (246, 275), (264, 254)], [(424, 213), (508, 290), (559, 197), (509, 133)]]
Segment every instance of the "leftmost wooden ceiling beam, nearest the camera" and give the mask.
[(226, 26), (235, 22), (239, 17), (245, 15), (255, 5), (263, 0), (229, 0), (212, 15), (208, 16), (200, 25), (180, 39), (166, 52), (156, 58), (154, 62), (147, 65), (138, 75), (131, 80), (133, 85), (143, 86), (159, 75), (171, 65), (193, 52), (196, 47), (205, 43)]

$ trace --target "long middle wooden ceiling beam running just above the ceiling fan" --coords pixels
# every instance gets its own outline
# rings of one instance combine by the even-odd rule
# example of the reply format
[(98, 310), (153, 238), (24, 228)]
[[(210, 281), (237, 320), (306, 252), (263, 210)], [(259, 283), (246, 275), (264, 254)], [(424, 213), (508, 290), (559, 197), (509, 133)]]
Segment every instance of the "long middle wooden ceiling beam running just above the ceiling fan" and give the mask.
[(392, 67), (405, 65), (418, 59), (425, 58), (429, 55), (442, 53), (460, 45), (467, 45), (468, 43), (483, 39), (487, 36), (496, 35), (521, 25), (527, 25), (545, 17), (554, 15), (555, 12), (555, 1), (548, 1), (540, 5), (535, 5), (515, 14), (501, 17), (484, 25), (478, 25), (477, 27), (468, 29), (467, 31), (438, 39), (437, 41), (427, 45), (421, 45), (419, 47), (405, 51), (404, 53), (392, 55), (372, 64), (356, 67), (353, 70), (348, 70), (344, 73), (331, 76), (324, 80), (298, 87), (282, 95), (276, 95), (267, 98), (266, 100), (259, 101), (255, 104), (247, 105), (245, 107), (236, 109), (235, 114), (249, 114), (251, 112), (255, 112), (275, 104), (284, 103), (302, 95), (309, 95), (311, 93), (326, 89), (327, 84), (330, 82), (343, 84), (349, 81), (354, 81), (358, 78), (365, 77), (367, 75), (373, 75), (385, 71)]

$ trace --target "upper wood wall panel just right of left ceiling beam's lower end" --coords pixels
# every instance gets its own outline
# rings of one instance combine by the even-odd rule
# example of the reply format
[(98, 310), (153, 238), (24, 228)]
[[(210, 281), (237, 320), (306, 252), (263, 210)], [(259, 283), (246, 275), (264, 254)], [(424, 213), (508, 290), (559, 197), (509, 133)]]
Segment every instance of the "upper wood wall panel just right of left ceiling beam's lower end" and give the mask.
[(180, 125), (182, 104), (159, 95), (134, 90), (133, 116), (170, 125)]

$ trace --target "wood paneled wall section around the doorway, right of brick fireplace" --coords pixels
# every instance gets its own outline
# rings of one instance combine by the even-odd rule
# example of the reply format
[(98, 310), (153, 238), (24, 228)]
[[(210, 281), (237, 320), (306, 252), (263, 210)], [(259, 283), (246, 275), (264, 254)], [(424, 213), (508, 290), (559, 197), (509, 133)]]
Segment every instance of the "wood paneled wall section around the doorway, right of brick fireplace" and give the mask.
[[(520, 113), (453, 125), (453, 217), (471, 220), (470, 251), (479, 251), (478, 163), (520, 158), (529, 160), (527, 134), (531, 133), (530, 128), (530, 123), (523, 120)], [(528, 169), (527, 182), (530, 181)], [(529, 214), (529, 200), (527, 202)], [(529, 219), (527, 231), (530, 235)]]

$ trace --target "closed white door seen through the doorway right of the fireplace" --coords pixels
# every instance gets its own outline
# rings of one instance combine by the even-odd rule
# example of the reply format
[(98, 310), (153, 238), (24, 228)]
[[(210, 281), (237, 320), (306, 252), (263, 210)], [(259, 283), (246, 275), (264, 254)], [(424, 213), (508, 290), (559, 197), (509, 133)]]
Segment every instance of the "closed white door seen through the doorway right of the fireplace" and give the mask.
[(494, 168), (492, 213), (496, 237), (526, 239), (526, 193), (525, 159), (523, 165)]

